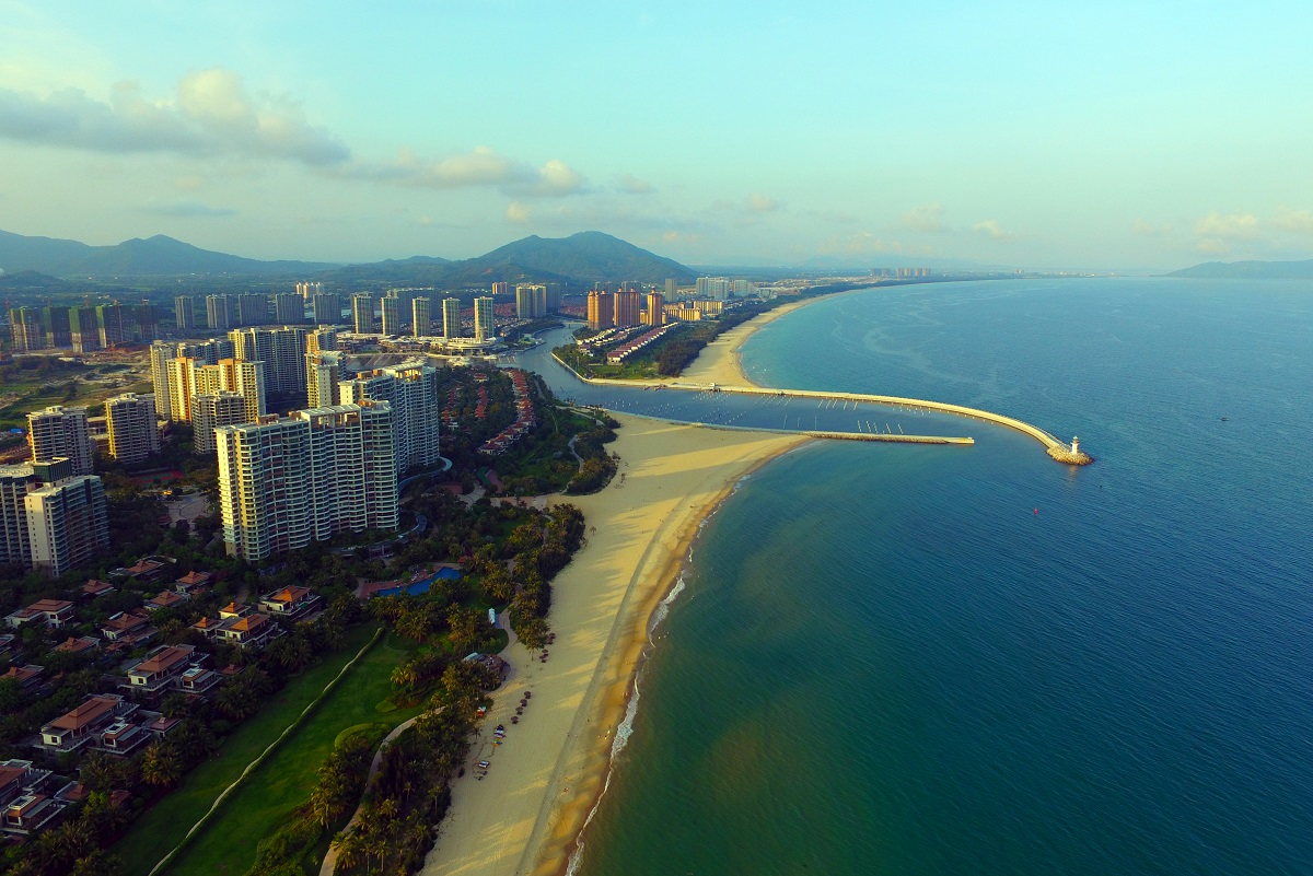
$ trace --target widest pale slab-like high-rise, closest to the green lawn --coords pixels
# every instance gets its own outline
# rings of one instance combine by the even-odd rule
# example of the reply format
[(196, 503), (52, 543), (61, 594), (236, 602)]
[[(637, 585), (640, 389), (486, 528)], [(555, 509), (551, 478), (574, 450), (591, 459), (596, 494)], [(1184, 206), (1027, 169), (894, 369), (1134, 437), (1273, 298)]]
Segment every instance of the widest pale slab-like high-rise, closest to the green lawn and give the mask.
[(397, 452), (386, 403), (301, 410), (215, 430), (228, 555), (261, 560), (335, 532), (394, 530)]

